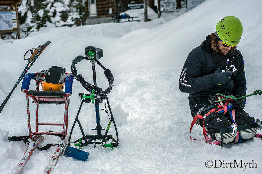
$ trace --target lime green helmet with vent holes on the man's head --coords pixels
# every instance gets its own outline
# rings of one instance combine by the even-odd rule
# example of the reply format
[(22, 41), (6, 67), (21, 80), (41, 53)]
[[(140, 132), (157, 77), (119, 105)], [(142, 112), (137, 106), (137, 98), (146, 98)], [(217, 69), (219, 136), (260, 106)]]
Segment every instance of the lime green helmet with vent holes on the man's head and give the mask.
[(241, 38), (243, 26), (234, 16), (226, 16), (216, 24), (216, 33), (222, 42), (229, 46), (236, 46)]

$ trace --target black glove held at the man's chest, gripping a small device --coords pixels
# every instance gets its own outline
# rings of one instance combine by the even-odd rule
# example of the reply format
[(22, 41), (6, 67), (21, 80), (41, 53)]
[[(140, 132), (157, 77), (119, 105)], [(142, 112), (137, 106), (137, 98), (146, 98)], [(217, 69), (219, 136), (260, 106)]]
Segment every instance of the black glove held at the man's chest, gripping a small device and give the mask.
[(232, 71), (222, 72), (221, 66), (217, 68), (214, 74), (211, 74), (212, 82), (217, 85), (225, 85), (230, 79)]

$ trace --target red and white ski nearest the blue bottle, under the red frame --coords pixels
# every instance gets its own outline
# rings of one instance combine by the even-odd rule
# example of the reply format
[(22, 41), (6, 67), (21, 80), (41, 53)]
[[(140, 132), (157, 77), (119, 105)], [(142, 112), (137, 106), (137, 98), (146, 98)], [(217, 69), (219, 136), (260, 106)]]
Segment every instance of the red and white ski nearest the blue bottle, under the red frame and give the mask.
[(61, 146), (62, 145), (67, 145), (68, 144), (68, 139), (69, 139), (69, 136), (66, 136), (64, 140), (60, 139), (58, 141), (58, 144), (57, 144), (57, 148), (56, 148), (56, 151), (54, 152), (50, 162), (49, 162), (49, 165), (47, 166), (46, 168), (46, 173), (49, 174), (52, 172), (52, 170), (54, 169), (54, 166), (56, 166), (56, 163), (58, 161), (58, 158), (61, 154)]

